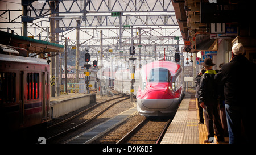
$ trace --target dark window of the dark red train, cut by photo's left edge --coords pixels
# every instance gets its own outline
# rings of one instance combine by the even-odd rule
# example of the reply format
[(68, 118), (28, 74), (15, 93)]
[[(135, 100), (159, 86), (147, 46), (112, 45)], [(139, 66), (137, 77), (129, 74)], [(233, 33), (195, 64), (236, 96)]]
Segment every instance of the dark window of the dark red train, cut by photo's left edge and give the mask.
[(16, 101), (16, 73), (0, 72), (0, 104)]

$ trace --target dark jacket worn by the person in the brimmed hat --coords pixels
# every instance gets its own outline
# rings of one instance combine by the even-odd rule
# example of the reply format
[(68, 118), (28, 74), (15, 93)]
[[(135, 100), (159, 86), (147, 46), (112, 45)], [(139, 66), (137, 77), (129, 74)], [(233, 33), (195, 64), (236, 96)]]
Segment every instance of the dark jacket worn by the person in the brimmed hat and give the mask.
[(207, 70), (201, 76), (199, 87), (199, 101), (204, 102), (206, 106), (217, 104), (217, 85), (214, 82), (215, 70)]

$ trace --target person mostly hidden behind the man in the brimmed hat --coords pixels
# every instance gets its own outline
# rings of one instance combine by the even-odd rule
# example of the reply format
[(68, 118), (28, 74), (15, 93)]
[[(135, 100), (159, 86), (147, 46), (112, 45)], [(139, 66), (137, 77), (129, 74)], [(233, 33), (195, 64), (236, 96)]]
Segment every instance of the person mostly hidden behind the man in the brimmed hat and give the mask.
[(199, 111), (199, 123), (198, 124), (204, 124), (204, 113), (203, 113), (203, 108), (200, 106), (200, 102), (199, 102), (199, 87), (200, 87), (200, 79), (201, 76), (204, 74), (205, 69), (204, 67), (201, 68), (199, 74), (196, 76), (195, 79), (195, 83), (196, 83), (196, 94), (195, 94), (195, 98), (197, 98), (197, 107), (198, 107), (198, 111)]

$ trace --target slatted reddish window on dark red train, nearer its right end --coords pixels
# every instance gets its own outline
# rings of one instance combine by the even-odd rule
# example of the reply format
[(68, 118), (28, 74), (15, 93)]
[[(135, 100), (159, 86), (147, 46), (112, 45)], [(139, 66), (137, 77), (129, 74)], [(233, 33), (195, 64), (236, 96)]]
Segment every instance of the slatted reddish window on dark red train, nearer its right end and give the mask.
[(27, 100), (39, 98), (39, 73), (27, 73)]

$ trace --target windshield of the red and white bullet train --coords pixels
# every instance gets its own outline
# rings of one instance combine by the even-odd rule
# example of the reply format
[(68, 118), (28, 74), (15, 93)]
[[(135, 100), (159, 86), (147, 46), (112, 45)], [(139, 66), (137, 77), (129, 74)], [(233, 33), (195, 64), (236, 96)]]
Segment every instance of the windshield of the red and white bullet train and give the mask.
[(171, 74), (166, 68), (153, 68), (148, 76), (149, 82), (170, 82)]

